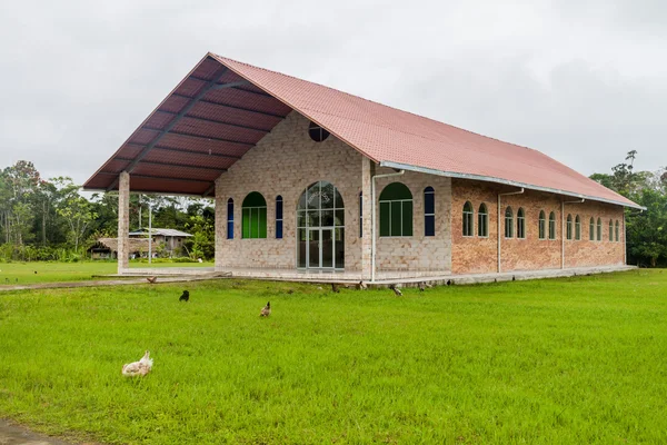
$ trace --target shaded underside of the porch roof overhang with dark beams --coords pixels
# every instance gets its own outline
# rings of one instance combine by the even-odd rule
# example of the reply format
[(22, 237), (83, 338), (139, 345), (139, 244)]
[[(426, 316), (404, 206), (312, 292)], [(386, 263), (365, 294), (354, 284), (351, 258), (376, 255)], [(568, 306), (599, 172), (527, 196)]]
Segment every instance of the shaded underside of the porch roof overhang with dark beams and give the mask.
[(132, 191), (213, 196), (215, 180), (289, 112), (209, 53), (83, 188), (117, 190), (127, 171)]

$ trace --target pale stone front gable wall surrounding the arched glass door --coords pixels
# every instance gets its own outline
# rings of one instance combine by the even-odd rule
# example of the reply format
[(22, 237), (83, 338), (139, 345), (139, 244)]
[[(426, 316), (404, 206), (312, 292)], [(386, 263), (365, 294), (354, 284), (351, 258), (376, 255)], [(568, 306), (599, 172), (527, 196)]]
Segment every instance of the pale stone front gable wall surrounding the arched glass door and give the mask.
[[(216, 267), (296, 268), (296, 209), (306, 188), (334, 184), (345, 205), (345, 267), (361, 270), (359, 192), (364, 157), (329, 136), (316, 142), (308, 119), (292, 111), (217, 181)], [(366, 167), (368, 169), (368, 166)], [(267, 238), (241, 238), (241, 204), (251, 191), (267, 200)], [(276, 239), (276, 197), (283, 200), (282, 239)], [(235, 202), (235, 239), (227, 239), (227, 200)]]

